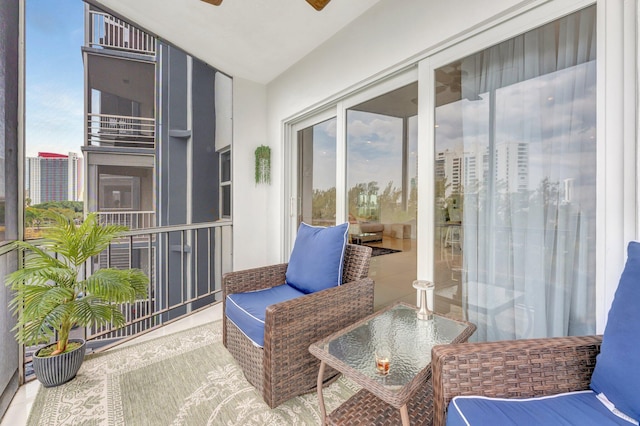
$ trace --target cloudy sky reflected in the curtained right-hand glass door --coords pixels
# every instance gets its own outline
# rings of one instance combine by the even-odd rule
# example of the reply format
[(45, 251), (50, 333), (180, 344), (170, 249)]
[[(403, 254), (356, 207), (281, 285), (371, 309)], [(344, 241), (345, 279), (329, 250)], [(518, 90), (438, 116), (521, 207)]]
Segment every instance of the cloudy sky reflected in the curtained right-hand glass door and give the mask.
[[(574, 189), (582, 187), (594, 194), (595, 67), (595, 61), (583, 63), (482, 93), (477, 100), (462, 99), (436, 108), (436, 153), (478, 155), (480, 167), (480, 155), (488, 152), (490, 143), (494, 153), (501, 145), (524, 143), (528, 190), (538, 188), (544, 179), (560, 183), (573, 179)], [(492, 95), (495, 138), (490, 141)], [(481, 173), (478, 179), (482, 185)], [(582, 201), (595, 208), (595, 197)]]

